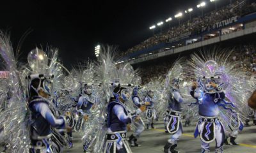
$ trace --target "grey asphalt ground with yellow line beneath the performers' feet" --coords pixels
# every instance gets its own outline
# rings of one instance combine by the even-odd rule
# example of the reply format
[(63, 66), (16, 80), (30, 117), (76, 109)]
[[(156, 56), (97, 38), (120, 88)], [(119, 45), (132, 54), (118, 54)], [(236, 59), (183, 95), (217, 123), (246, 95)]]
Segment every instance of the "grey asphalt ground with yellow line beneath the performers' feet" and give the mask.
[[(241, 133), (239, 133), (236, 142), (239, 145), (225, 145), (225, 153), (256, 153), (256, 126), (252, 123), (248, 127), (245, 127)], [(178, 147), (176, 148), (181, 153), (200, 152), (200, 138), (194, 138), (193, 133), (195, 130), (195, 123), (189, 127), (183, 127), (184, 133), (180, 136)], [(128, 137), (132, 132), (128, 132)], [(170, 138), (170, 134), (164, 133), (163, 121), (156, 122), (155, 129), (145, 129), (138, 139), (141, 147), (131, 147), (132, 152), (147, 152), (147, 153), (161, 153), (166, 141)], [(211, 143), (211, 152), (214, 152), (215, 142)], [(69, 152), (83, 152), (83, 144), (81, 141), (81, 134), (74, 133), (74, 147), (72, 149), (65, 149), (65, 153)]]

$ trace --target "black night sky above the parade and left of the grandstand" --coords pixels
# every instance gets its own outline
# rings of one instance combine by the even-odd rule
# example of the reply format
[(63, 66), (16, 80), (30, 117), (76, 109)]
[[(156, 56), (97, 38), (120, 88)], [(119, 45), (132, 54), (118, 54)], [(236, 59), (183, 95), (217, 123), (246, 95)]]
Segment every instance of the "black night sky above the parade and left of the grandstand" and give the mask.
[[(193, 7), (192, 16), (201, 10), (198, 0), (129, 0), (129, 1), (4, 1), (0, 8), (0, 29), (10, 31), (14, 48), (22, 34), (26, 37), (21, 51), (23, 61), (36, 46), (52, 45), (60, 48), (65, 66), (78, 61), (94, 59), (94, 47), (98, 43), (117, 45), (125, 51), (152, 36), (150, 25), (165, 21), (179, 11)], [(214, 10), (208, 0), (205, 12)], [(230, 0), (218, 0), (218, 6)], [(181, 22), (188, 20), (185, 15)], [(173, 19), (172, 25), (178, 21)], [(168, 28), (165, 24), (163, 29)]]

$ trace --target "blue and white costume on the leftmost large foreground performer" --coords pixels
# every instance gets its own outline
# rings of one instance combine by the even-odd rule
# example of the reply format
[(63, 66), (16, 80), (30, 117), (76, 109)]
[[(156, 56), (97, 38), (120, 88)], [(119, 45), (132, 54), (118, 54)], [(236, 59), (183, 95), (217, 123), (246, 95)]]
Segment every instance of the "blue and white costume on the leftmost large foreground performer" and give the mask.
[(31, 111), (31, 150), (30, 152), (54, 152), (51, 148), (51, 128), (65, 128), (65, 120), (57, 119), (49, 108), (49, 101), (38, 96), (28, 104)]

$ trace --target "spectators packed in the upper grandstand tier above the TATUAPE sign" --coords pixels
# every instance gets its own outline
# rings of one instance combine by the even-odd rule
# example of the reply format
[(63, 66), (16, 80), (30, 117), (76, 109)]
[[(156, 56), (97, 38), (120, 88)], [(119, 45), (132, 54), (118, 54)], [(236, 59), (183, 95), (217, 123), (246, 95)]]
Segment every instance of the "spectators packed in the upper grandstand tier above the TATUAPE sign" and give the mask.
[(237, 0), (234, 3), (224, 6), (220, 10), (211, 11), (206, 13), (204, 16), (191, 18), (188, 22), (184, 22), (175, 27), (171, 27), (169, 31), (162, 34), (155, 34), (151, 38), (141, 42), (132, 48), (129, 48), (126, 52), (122, 52), (121, 56), (131, 54), (144, 48), (152, 47), (159, 43), (168, 42), (170, 38), (177, 38), (180, 34), (199, 34), (203, 31), (212, 29), (216, 22), (225, 20), (234, 16), (241, 16), (249, 13), (256, 8), (256, 3), (247, 4), (249, 0)]

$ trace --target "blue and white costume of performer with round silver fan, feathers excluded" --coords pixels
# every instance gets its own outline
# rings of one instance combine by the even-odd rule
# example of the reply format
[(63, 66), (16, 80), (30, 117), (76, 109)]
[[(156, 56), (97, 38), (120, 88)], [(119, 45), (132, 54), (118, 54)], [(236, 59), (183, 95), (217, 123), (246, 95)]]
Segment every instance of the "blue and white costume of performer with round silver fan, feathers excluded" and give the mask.
[(225, 93), (207, 93), (191, 89), (191, 96), (195, 98), (198, 104), (198, 113), (200, 119), (196, 125), (195, 138), (200, 135), (201, 152), (209, 152), (210, 143), (216, 140), (216, 152), (223, 152), (223, 143), (225, 140), (225, 131), (221, 121), (218, 118), (218, 104), (225, 98)]

